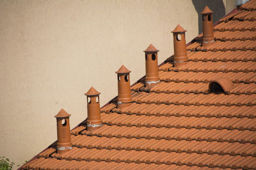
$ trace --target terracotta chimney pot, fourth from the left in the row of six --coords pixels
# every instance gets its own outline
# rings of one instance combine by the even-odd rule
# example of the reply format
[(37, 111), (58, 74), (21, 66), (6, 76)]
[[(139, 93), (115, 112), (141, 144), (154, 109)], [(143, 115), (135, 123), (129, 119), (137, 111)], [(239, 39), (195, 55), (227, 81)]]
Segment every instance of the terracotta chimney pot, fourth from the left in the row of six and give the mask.
[(146, 59), (146, 86), (150, 86), (152, 83), (155, 84), (159, 82), (158, 75), (158, 62), (157, 62), (157, 50), (153, 45), (149, 45), (144, 51)]

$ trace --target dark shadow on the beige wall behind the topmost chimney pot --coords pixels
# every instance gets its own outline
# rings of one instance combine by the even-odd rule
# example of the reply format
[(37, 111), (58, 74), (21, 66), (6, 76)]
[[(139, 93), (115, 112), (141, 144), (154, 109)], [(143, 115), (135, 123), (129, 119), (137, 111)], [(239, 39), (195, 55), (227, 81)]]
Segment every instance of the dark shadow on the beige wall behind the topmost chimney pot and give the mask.
[(220, 20), (225, 15), (225, 5), (223, 0), (192, 0), (195, 10), (198, 14), (198, 34), (203, 31), (202, 12), (205, 6), (208, 6), (214, 13), (212, 13), (213, 23)]

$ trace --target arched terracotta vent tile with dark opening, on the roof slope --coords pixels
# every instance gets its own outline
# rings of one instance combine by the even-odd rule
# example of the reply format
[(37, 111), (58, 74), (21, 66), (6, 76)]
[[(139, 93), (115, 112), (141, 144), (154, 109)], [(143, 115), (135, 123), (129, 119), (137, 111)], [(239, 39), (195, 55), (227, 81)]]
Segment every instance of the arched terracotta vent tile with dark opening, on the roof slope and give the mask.
[(217, 78), (209, 83), (209, 92), (214, 92), (216, 94), (225, 93), (230, 94), (230, 90), (234, 89), (234, 83), (225, 77)]

